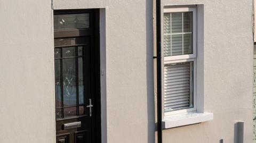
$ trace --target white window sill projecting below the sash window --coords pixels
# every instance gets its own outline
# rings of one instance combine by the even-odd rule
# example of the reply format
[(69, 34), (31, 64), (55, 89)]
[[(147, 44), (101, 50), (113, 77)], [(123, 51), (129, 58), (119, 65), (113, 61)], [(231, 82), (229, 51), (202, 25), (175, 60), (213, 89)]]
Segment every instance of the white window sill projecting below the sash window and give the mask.
[(187, 113), (166, 116), (163, 120), (163, 129), (180, 127), (189, 124), (202, 123), (213, 120), (213, 113)]

